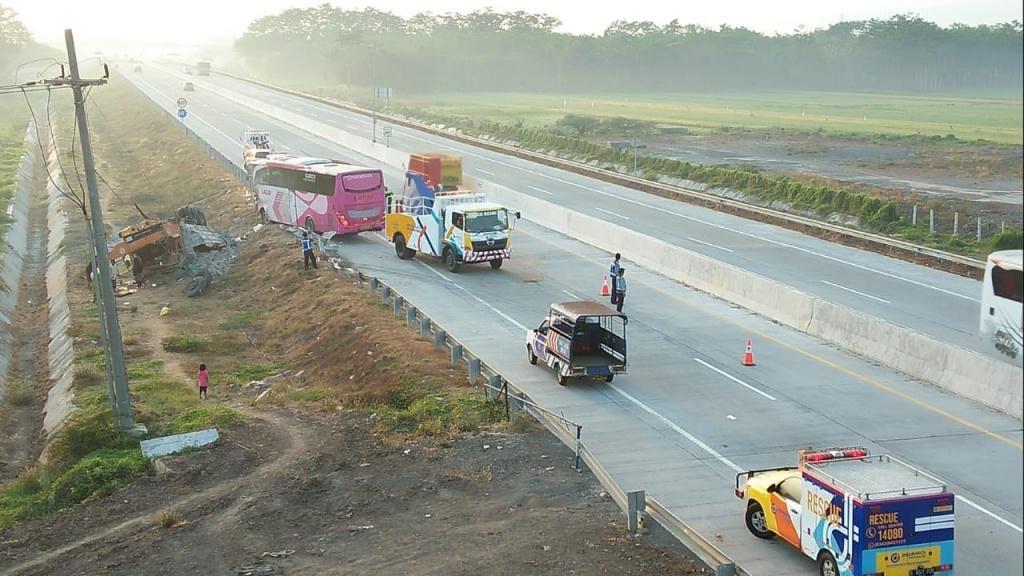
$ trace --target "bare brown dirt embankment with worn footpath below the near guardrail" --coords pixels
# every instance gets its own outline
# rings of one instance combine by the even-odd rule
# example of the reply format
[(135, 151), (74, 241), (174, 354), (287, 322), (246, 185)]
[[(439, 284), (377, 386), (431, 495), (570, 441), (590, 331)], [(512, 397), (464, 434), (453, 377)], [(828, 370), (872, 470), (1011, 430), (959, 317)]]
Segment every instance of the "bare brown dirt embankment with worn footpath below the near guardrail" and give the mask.
[[(130, 96), (117, 97), (126, 107)], [(208, 190), (196, 192), (209, 193), (211, 224), (239, 234), (255, 223), (242, 191), (189, 143), (171, 138), (170, 160), (139, 166), (124, 162), (132, 140), (122, 152), (96, 129), (115, 187), (139, 169), (154, 181), (206, 173)], [(246, 418), (212, 448), (163, 458), (110, 496), (0, 531), (0, 574), (708, 573), (656, 528), (628, 536), (594, 477), (574, 470), (571, 452), (536, 422), (436, 438), (384, 429), (374, 402), (410, 382), (464, 394), (465, 376), (351, 281), (326, 268), (306, 273), (297, 255), (294, 238), (267, 227), (201, 298), (185, 298), (170, 273), (121, 299), (130, 361), (162, 360), (185, 381), (206, 362), (209, 402)], [(73, 287), (73, 308), (88, 298), (84, 283)], [(207, 347), (163, 349), (185, 333)], [(304, 371), (299, 387), (274, 387), (253, 406), (244, 381), (223, 378), (266, 362)]]

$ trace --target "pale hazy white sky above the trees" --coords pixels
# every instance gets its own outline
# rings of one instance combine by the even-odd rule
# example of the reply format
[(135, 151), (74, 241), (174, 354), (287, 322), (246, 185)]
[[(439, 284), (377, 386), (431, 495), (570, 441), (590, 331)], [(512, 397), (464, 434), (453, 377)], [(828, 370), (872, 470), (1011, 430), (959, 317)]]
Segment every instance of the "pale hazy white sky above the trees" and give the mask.
[[(0, 0), (13, 7), (36, 38), (62, 44), (62, 30), (90, 41), (196, 44), (226, 41), (242, 34), (252, 19), (289, 7), (323, 0)], [(1021, 0), (377, 0), (332, 2), (343, 8), (372, 5), (402, 16), (420, 11), (496, 10), (546, 12), (571, 33), (600, 33), (614, 19), (649, 19), (658, 24), (743, 26), (766, 33), (809, 29), (840, 19), (887, 17), (915, 12), (940, 25), (954, 22), (993, 24), (1022, 18)]]

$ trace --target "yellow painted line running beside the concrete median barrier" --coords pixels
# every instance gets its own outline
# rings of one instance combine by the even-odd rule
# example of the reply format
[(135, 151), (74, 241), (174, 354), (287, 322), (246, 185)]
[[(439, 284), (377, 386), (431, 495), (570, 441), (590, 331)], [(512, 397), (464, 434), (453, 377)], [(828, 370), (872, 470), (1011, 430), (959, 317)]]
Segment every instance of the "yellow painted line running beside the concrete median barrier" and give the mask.
[[(526, 236), (529, 236), (530, 238), (539, 240), (539, 241), (541, 241), (541, 242), (543, 242), (545, 244), (548, 244), (550, 246), (554, 246), (555, 248), (557, 248), (559, 250), (564, 250), (566, 252), (569, 252), (570, 254), (572, 254), (572, 255), (574, 255), (574, 256), (577, 256), (579, 258), (582, 258), (584, 260), (593, 262), (593, 263), (595, 263), (595, 264), (597, 264), (599, 266), (603, 266), (604, 265), (603, 262), (597, 260), (596, 258), (592, 258), (590, 256), (587, 256), (586, 254), (582, 254), (582, 253), (580, 253), (580, 252), (578, 252), (578, 251), (575, 251), (575, 250), (573, 250), (571, 248), (566, 248), (564, 246), (558, 246), (554, 242), (551, 242), (551, 241), (549, 241), (549, 240), (547, 240), (545, 238), (542, 238), (542, 237), (540, 237), (540, 236), (538, 236), (536, 234), (530, 234), (530, 233), (528, 233), (528, 232), (526, 232), (524, 230), (518, 230), (516, 232), (519, 233), (519, 234), (524, 234)], [(595, 248), (595, 249), (598, 249), (598, 248)], [(780, 339), (778, 339), (778, 338), (776, 338), (776, 337), (774, 337), (774, 336), (772, 336), (770, 334), (767, 334), (765, 332), (762, 332), (761, 330), (758, 330), (757, 328), (752, 328), (751, 326), (749, 326), (749, 325), (746, 325), (744, 323), (741, 323), (741, 322), (738, 322), (738, 321), (733, 320), (731, 318), (727, 318), (725, 316), (722, 316), (722, 315), (718, 314), (715, 311), (712, 311), (712, 310), (710, 310), (710, 308), (708, 308), (708, 307), (706, 307), (703, 305), (700, 305), (698, 303), (692, 302), (692, 301), (690, 301), (690, 300), (688, 300), (686, 298), (683, 298), (683, 297), (679, 296), (678, 294), (675, 294), (673, 292), (665, 290), (664, 288), (660, 288), (658, 286), (654, 286), (653, 284), (644, 282), (643, 280), (639, 280), (638, 279), (638, 280), (635, 280), (634, 282), (637, 282), (638, 284), (642, 284), (642, 285), (644, 285), (644, 286), (646, 286), (646, 287), (648, 287), (648, 288), (650, 288), (652, 290), (655, 290), (655, 291), (657, 291), (657, 292), (659, 292), (662, 294), (665, 294), (666, 296), (669, 296), (670, 298), (672, 298), (674, 300), (678, 300), (678, 301), (680, 301), (680, 302), (682, 302), (682, 303), (684, 303), (684, 304), (686, 304), (686, 305), (688, 305), (690, 307), (699, 310), (700, 312), (702, 312), (702, 313), (705, 313), (705, 314), (707, 314), (709, 316), (712, 316), (712, 317), (714, 317), (714, 318), (716, 318), (718, 320), (721, 320), (722, 322), (726, 322), (726, 323), (731, 324), (731, 325), (733, 325), (733, 326), (735, 326), (737, 328), (742, 328), (743, 330), (748, 330), (748, 331), (756, 334), (759, 338), (764, 338), (766, 340), (769, 340), (769, 341), (774, 342), (776, 344), (779, 344), (781, 346), (787, 347), (787, 348), (792, 349), (793, 352), (795, 352), (797, 354), (803, 355), (803, 356), (805, 356), (805, 357), (807, 357), (807, 358), (809, 358), (811, 360), (820, 362), (821, 364), (824, 364), (825, 366), (827, 366), (829, 368), (838, 370), (838, 371), (846, 374), (847, 376), (851, 376), (851, 377), (856, 378), (856, 379), (858, 379), (858, 380), (860, 380), (860, 381), (862, 381), (864, 383), (870, 384), (870, 385), (872, 385), (872, 386), (874, 386), (874, 387), (877, 387), (877, 388), (879, 388), (881, 390), (885, 390), (885, 392), (887, 392), (889, 394), (892, 394), (893, 396), (896, 396), (897, 398), (900, 398), (902, 400), (906, 400), (908, 402), (916, 404), (918, 406), (924, 408), (925, 410), (928, 410), (929, 412), (933, 412), (935, 414), (939, 414), (940, 416), (944, 416), (944, 417), (946, 417), (946, 418), (948, 418), (948, 419), (956, 422), (957, 424), (967, 426), (967, 427), (969, 427), (969, 428), (971, 428), (971, 429), (973, 429), (975, 431), (979, 431), (979, 433), (981, 433), (981, 434), (983, 434), (985, 436), (988, 436), (988, 437), (993, 438), (995, 440), (998, 440), (1000, 442), (1005, 442), (1005, 443), (1009, 444), (1010, 446), (1013, 446), (1014, 448), (1017, 448), (1018, 450), (1024, 450), (1024, 444), (1022, 444), (1020, 442), (1017, 442), (1016, 440), (1014, 440), (1012, 438), (1002, 436), (1002, 435), (1000, 435), (998, 433), (994, 433), (994, 431), (992, 431), (992, 430), (990, 430), (990, 429), (988, 429), (988, 428), (986, 428), (984, 426), (980, 426), (978, 424), (975, 424), (974, 422), (971, 422), (970, 420), (961, 418), (959, 416), (957, 416), (955, 414), (951, 414), (951, 413), (949, 413), (949, 412), (947, 412), (947, 411), (939, 408), (938, 406), (933, 406), (932, 404), (929, 404), (929, 403), (927, 403), (927, 402), (925, 402), (923, 400), (919, 400), (919, 399), (910, 396), (909, 394), (906, 394), (906, 393), (904, 393), (902, 390), (898, 390), (898, 389), (890, 386), (889, 384), (880, 382), (880, 381), (876, 380), (874, 378), (871, 378), (870, 376), (865, 376), (864, 374), (861, 374), (860, 372), (857, 372), (856, 370), (851, 370), (849, 368), (846, 368), (845, 366), (840, 366), (839, 364), (836, 364), (835, 362), (833, 362), (830, 360), (822, 358), (822, 357), (820, 357), (820, 356), (818, 356), (818, 355), (816, 355), (816, 354), (814, 354), (814, 353), (812, 353), (810, 351), (804, 349), (804, 348), (802, 348), (802, 347), (800, 347), (800, 346), (798, 346), (796, 344), (792, 344), (792, 343), (786, 342), (784, 340), (780, 340)]]

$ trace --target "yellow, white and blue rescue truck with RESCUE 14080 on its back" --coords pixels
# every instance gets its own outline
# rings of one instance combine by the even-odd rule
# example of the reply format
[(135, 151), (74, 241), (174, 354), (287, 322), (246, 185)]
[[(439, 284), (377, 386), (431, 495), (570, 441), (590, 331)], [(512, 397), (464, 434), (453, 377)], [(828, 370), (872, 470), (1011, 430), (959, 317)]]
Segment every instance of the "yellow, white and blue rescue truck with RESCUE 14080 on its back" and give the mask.
[(821, 576), (952, 572), (955, 498), (944, 483), (859, 447), (801, 451), (798, 462), (736, 476), (755, 536), (782, 538)]

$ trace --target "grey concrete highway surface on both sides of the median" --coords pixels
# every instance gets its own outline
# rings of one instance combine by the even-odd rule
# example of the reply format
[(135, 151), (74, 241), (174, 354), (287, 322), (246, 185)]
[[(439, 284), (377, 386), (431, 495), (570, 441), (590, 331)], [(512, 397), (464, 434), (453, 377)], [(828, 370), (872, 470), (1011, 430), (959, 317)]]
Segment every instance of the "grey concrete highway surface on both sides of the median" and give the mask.
[[(144, 75), (128, 73), (128, 78), (168, 112), (174, 112), (174, 100), (183, 95), (183, 76), (177, 71), (147, 66)], [(241, 163), (240, 137), (245, 129), (266, 128), (276, 143), (293, 152), (376, 165), (256, 114), (230, 97), (244, 91), (285, 104), (280, 94), (217, 77), (189, 80), (197, 92), (184, 94), (189, 99), (186, 123), (229, 159)], [(216, 90), (209, 89), (213, 87)], [(324, 123), (367, 132), (361, 118), (294, 98), (287, 106)], [(395, 127), (394, 134), (392, 147), (440, 146), (404, 128)], [(692, 236), (719, 247), (706, 247), (708, 254), (742, 258), (736, 261), (744, 265), (759, 263), (758, 272), (785, 275), (808, 290), (817, 284), (827, 287), (820, 281), (828, 280), (842, 287), (828, 289), (837, 291), (837, 299), (847, 298), (844, 302), (857, 296), (845, 295), (847, 289), (870, 293), (889, 302), (872, 310), (896, 314), (894, 321), (916, 321), (918, 313), (895, 312), (904, 306), (921, 311), (921, 320), (925, 311), (934, 317), (937, 311), (948, 316), (961, 310), (966, 334), (967, 317), (976, 316), (977, 302), (971, 298), (979, 287), (974, 281), (745, 220), (737, 232), (735, 222), (723, 223), (731, 221), (723, 214), (663, 204), (656, 198), (561, 172), (557, 177), (572, 183), (551, 180), (532, 173), (546, 174), (545, 167), (492, 153), (463, 148), (457, 152), (463, 154), (470, 173), (483, 178), (500, 174), (503, 183), (517, 190), (536, 186), (538, 195), (571, 198), (579, 202), (574, 206), (593, 210), (593, 215), (600, 214), (596, 211), (600, 207), (613, 213), (608, 218), (647, 225), (652, 216), (641, 211), (652, 209), (632, 201), (685, 214), (665, 214), (660, 223), (651, 224), (651, 233)], [(492, 156), (503, 164), (487, 160)], [(470, 162), (471, 158), (476, 160)], [(401, 181), (397, 170), (382, 168), (389, 181)], [(593, 193), (581, 187), (611, 196), (602, 195), (607, 202), (584, 202)], [(591, 196), (569, 196), (577, 188)], [(754, 576), (810, 575), (816, 569), (787, 544), (761, 541), (746, 532), (743, 504), (732, 494), (733, 479), (743, 469), (793, 465), (797, 449), (809, 445), (863, 445), (942, 478), (957, 494), (956, 574), (1024, 570), (1024, 437), (1018, 420), (908, 380), (630, 262), (626, 264), (632, 278), (626, 304), (630, 374), (610, 384), (559, 386), (550, 371), (526, 362), (526, 329), (541, 322), (552, 301), (596, 297), (610, 257), (529, 222), (520, 223), (514, 234), (513, 258), (499, 272), (465, 266), (462, 274), (452, 275), (430, 259), (399, 260), (391, 246), (374, 234), (345, 237), (335, 249), (356, 268), (394, 286), (535, 401), (581, 422), (584, 443), (623, 489), (646, 490)], [(701, 246), (691, 243), (687, 247)], [(921, 307), (921, 300), (933, 303)], [(967, 307), (975, 312), (969, 315)], [(929, 325), (940, 329), (946, 323), (933, 318)], [(957, 332), (948, 326), (940, 331), (950, 337)], [(739, 366), (748, 338), (755, 342), (758, 366), (753, 368)]]

